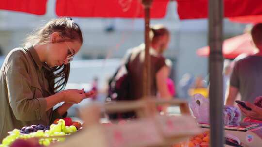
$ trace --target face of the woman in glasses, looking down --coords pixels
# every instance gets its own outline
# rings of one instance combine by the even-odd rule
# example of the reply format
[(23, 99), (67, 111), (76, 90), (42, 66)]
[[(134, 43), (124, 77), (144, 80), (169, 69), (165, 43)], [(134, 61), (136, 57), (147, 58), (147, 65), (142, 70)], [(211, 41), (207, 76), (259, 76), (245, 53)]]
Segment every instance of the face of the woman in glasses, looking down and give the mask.
[(47, 64), (49, 67), (68, 64), (80, 50), (82, 44), (78, 40), (51, 43), (48, 46)]

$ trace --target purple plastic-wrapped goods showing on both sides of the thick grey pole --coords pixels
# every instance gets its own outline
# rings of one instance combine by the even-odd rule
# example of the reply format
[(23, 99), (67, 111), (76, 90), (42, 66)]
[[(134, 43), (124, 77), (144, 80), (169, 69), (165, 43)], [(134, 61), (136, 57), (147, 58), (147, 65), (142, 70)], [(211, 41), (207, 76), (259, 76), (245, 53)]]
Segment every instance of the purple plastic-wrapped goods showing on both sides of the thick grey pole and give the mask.
[[(189, 102), (189, 107), (198, 123), (209, 122), (209, 99), (201, 94), (195, 94)], [(241, 112), (237, 107), (224, 106), (223, 118), (224, 124), (226, 125), (239, 123), (241, 120)]]

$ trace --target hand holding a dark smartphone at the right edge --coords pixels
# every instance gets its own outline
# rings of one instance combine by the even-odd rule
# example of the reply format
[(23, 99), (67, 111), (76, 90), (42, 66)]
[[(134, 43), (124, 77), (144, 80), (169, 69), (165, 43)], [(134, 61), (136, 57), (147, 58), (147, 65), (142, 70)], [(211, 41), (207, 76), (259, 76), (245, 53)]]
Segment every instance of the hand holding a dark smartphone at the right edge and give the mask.
[(262, 121), (262, 96), (257, 97), (254, 104), (245, 102), (246, 107), (249, 107), (251, 110), (246, 109), (242, 104), (237, 105), (246, 117)]

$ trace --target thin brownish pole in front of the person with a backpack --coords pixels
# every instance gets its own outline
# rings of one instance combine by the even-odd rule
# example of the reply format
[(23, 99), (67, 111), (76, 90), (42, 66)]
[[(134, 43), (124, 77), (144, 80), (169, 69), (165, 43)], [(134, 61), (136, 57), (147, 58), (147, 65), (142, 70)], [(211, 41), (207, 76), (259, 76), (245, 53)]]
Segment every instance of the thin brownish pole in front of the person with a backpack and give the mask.
[(150, 48), (150, 39), (149, 39), (149, 31), (150, 31), (150, 6), (152, 4), (152, 0), (142, 0), (145, 10), (145, 60), (144, 60), (144, 68), (143, 68), (143, 97), (147, 98), (151, 94), (151, 62), (149, 55)]

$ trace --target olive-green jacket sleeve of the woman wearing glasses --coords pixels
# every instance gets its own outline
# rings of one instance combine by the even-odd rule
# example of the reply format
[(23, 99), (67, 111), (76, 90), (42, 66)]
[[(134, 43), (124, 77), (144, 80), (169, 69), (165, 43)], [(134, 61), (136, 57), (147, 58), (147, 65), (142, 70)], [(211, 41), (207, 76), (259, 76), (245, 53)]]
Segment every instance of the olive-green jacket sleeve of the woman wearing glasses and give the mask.
[(25, 59), (16, 54), (9, 59), (5, 80), (12, 111), (18, 120), (39, 120), (46, 112), (46, 99), (33, 97)]

